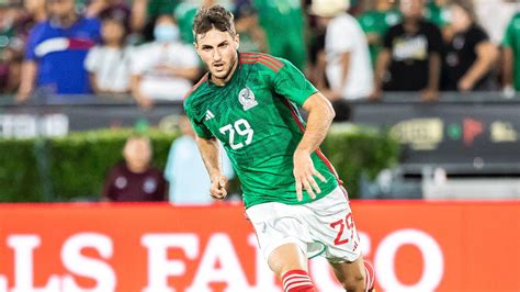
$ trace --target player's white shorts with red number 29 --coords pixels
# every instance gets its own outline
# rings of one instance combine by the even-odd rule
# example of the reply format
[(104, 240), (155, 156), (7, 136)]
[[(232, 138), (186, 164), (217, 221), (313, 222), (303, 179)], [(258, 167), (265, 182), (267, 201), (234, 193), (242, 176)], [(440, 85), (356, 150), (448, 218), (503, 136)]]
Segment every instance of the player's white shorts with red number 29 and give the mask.
[(330, 262), (354, 261), (361, 255), (359, 235), (342, 187), (307, 204), (263, 203), (249, 207), (246, 213), (265, 261), (276, 247), (289, 243), (297, 244), (308, 258), (324, 256)]

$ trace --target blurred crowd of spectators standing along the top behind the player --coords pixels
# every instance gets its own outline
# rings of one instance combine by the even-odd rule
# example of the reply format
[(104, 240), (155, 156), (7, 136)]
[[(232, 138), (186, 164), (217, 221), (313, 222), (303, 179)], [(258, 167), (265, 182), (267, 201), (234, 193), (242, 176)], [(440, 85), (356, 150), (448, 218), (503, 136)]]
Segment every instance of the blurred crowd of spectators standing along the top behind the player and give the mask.
[(337, 106), (384, 91), (520, 90), (515, 1), (1, 0), (0, 93), (181, 100), (203, 71), (191, 23), (217, 2), (235, 11), (241, 50), (290, 59)]

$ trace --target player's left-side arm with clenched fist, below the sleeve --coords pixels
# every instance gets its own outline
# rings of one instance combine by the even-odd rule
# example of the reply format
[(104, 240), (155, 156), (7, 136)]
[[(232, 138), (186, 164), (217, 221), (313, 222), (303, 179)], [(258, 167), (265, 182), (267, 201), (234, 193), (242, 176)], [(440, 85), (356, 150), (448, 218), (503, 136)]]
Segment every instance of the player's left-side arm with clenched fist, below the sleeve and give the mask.
[(206, 167), (212, 181), (211, 194), (215, 199), (224, 199), (227, 195), (227, 178), (223, 175), (221, 164), (221, 147), (216, 138), (196, 137), (196, 144), (201, 151), (202, 160)]

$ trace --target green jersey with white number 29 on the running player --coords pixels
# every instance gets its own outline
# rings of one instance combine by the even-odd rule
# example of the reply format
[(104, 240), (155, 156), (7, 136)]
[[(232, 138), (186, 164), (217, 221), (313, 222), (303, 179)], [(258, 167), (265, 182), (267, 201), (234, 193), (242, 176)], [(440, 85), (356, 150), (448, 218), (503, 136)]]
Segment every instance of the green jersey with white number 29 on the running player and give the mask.
[[(303, 137), (305, 123), (297, 105), (317, 92), (290, 61), (259, 53), (239, 53), (231, 79), (216, 86), (206, 76), (184, 101), (184, 110), (197, 136), (216, 137), (223, 144), (240, 179), (246, 207), (298, 202), (293, 176), (293, 154)], [(337, 186), (336, 172), (319, 151), (312, 154), (321, 193)]]

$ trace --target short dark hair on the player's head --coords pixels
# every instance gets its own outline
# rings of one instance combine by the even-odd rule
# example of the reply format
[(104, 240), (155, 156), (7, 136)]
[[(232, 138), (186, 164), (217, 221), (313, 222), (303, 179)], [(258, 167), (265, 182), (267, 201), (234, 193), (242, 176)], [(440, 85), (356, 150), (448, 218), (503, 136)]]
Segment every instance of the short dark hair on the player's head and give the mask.
[(221, 5), (201, 8), (193, 21), (193, 36), (195, 42), (199, 34), (205, 34), (212, 29), (228, 32), (231, 36), (235, 36), (237, 32), (235, 31), (233, 20), (233, 13)]

